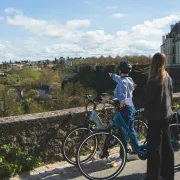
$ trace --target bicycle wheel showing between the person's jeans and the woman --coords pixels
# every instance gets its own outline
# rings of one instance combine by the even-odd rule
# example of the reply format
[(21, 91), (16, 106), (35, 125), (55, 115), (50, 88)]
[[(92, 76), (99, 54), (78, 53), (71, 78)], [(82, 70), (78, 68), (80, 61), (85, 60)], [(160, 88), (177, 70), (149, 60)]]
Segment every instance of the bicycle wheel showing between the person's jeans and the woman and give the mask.
[(141, 144), (145, 143), (147, 138), (147, 131), (148, 131), (147, 124), (141, 120), (135, 120), (134, 129), (136, 131), (139, 143)]

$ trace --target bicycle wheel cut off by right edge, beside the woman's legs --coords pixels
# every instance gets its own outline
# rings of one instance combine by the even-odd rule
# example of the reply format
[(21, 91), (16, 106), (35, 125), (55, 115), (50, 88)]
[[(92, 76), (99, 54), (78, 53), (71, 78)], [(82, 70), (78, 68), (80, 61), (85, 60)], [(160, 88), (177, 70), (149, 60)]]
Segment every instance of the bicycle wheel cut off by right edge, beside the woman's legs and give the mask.
[(180, 143), (179, 143), (179, 135), (177, 124), (170, 125), (170, 133), (171, 133), (171, 142), (174, 149), (174, 168), (180, 169)]

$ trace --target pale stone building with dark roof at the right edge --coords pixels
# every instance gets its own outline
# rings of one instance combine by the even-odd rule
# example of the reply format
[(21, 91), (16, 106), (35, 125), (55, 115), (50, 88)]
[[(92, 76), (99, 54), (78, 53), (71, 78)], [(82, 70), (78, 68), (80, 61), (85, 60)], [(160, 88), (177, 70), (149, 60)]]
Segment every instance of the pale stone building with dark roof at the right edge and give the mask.
[(180, 64), (180, 21), (162, 36), (161, 52), (167, 56), (167, 64)]

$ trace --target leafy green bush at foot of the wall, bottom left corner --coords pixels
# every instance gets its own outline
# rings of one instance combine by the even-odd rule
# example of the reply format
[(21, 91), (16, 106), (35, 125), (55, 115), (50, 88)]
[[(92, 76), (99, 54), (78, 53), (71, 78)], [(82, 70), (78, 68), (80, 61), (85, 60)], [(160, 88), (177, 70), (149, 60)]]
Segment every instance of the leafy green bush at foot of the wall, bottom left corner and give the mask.
[(0, 171), (4, 177), (15, 176), (42, 164), (40, 157), (23, 151), (15, 144), (5, 144), (0, 149)]

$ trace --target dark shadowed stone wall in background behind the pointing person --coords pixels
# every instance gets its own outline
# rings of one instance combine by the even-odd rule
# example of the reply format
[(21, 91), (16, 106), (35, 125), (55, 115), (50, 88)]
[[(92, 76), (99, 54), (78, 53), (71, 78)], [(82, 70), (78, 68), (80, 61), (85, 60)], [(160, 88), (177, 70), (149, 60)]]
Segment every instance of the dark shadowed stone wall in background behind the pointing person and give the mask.
[[(148, 64), (133, 65), (133, 70), (130, 73), (130, 76), (137, 84), (134, 90), (134, 97), (137, 99), (137, 108), (143, 107), (142, 94), (144, 93), (149, 66)], [(167, 67), (167, 71), (173, 79), (174, 92), (180, 92), (180, 66), (169, 66)], [(116, 82), (108, 75), (109, 72), (118, 73), (117, 66), (82, 66), (79, 68), (77, 75), (63, 83), (63, 87), (68, 81), (80, 82), (86, 88), (93, 88), (97, 92), (97, 95), (100, 96), (104, 92), (113, 91), (116, 87)]]

